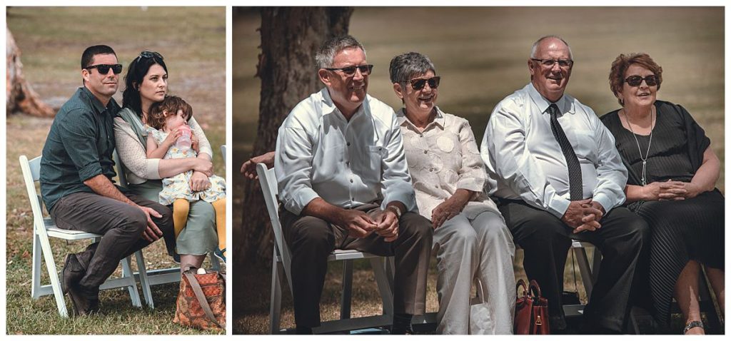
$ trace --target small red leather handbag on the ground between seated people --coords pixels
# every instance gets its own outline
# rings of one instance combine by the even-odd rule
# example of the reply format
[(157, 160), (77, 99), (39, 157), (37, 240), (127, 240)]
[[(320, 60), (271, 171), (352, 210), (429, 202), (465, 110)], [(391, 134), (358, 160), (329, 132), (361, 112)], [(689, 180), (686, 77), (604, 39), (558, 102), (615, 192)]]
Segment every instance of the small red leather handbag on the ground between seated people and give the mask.
[(541, 296), (541, 288), (535, 280), (531, 280), (529, 288), (523, 279), (518, 280), (515, 291), (520, 295), (518, 289), (523, 288), (523, 296), (515, 300), (515, 320), (513, 321), (513, 332), (515, 334), (548, 335), (548, 299)]

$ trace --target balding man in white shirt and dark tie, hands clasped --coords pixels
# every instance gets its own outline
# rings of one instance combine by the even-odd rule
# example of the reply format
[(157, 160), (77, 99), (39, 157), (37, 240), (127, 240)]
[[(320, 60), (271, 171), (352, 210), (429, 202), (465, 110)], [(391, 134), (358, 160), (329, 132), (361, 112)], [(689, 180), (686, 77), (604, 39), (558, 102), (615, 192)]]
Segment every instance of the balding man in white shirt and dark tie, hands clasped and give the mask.
[(618, 207), (627, 171), (614, 137), (590, 107), (564, 93), (573, 66), (569, 45), (542, 37), (528, 66), (531, 83), (495, 107), (482, 139), (490, 194), (525, 252), (526, 274), (548, 298), (550, 329), (566, 329), (561, 291), (576, 238), (603, 256), (584, 332), (622, 332), (648, 226)]

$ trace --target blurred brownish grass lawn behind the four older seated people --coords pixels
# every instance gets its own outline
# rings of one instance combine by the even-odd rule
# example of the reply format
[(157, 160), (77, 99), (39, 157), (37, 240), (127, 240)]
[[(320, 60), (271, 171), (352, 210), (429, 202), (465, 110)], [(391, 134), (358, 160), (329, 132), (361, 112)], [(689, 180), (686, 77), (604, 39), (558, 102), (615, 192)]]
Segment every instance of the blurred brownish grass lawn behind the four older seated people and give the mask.
[[(233, 20), (233, 131), (232, 165), (238, 171), (249, 158), (256, 138), (260, 80), (256, 73), (260, 53), (258, 12), (242, 11)], [(441, 7), (355, 9), (350, 34), (366, 47), (374, 64), (368, 92), (392, 107), (401, 102), (388, 80), (388, 64), (394, 55), (417, 51), (428, 55), (442, 76), (439, 107), (467, 118), (482, 139), (493, 107), (505, 96), (529, 83), (526, 61), (532, 43), (545, 34), (557, 34), (569, 42), (575, 66), (567, 92), (592, 107), (597, 115), (618, 108), (609, 90), (608, 74), (619, 53), (649, 53), (663, 69), (658, 98), (682, 104), (711, 138), (721, 158), (724, 190), (724, 10), (722, 7)], [(315, 77), (315, 74), (313, 74)], [(291, 109), (291, 108), (290, 108)], [(243, 202), (243, 178), (234, 172), (233, 207)], [(243, 217), (233, 212), (233, 224)], [(270, 246), (267, 246), (268, 248)], [(270, 251), (269, 251), (270, 252)], [(522, 253), (515, 261), (516, 275), (525, 277)], [(569, 263), (570, 264), (570, 261)], [(567, 289), (573, 275), (565, 272)], [(268, 267), (257, 264), (254, 267)], [(323, 320), (338, 316), (339, 269), (325, 284), (321, 304)], [(355, 278), (372, 279), (368, 266), (356, 269)], [(372, 280), (357, 280), (354, 316), (380, 310)], [(428, 311), (435, 311), (436, 277), (429, 277)], [(235, 283), (247, 293), (234, 331), (261, 334), (268, 330), (270, 272), (264, 270)], [(579, 287), (581, 286), (579, 278)], [(582, 299), (586, 299), (582, 293)], [(282, 325), (293, 326), (289, 294), (284, 294)], [(680, 330), (678, 330), (680, 332)]]

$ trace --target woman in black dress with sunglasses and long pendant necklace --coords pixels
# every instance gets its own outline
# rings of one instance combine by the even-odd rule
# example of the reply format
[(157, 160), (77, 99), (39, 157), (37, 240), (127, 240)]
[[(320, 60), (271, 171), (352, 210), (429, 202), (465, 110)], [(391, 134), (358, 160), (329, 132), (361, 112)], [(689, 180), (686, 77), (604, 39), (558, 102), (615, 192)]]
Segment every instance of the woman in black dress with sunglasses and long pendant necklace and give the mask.
[[(622, 109), (602, 121), (629, 171), (629, 208), (653, 232), (649, 282), (655, 318), (667, 325), (675, 298), (686, 334), (703, 334), (697, 299), (704, 266), (724, 311), (724, 196), (711, 140), (680, 105), (656, 100), (662, 68), (649, 55), (619, 55), (610, 87)], [(639, 284), (643, 285), (643, 284)]]

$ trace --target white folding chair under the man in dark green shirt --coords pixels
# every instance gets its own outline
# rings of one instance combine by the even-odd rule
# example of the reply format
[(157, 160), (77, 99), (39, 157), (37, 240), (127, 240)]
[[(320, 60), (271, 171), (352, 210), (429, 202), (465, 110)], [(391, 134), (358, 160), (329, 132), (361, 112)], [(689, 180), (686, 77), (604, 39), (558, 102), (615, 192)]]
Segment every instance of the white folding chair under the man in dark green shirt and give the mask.
[[(56, 260), (53, 258), (53, 250), (50, 248), (50, 240), (48, 238), (53, 237), (61, 240), (98, 241), (102, 236), (83, 231), (58, 229), (50, 217), (43, 216), (43, 201), (36, 191), (35, 184), (40, 177), (40, 163), (40, 156), (32, 159), (31, 161), (28, 161), (28, 158), (24, 155), (20, 156), (20, 169), (23, 171), (23, 181), (26, 183), (28, 199), (31, 203), (31, 210), (33, 211), (33, 273), (31, 279), (31, 297), (33, 297), (33, 299), (38, 299), (40, 296), (53, 294), (56, 298), (58, 314), (63, 317), (68, 317), (69, 313), (66, 309), (66, 301), (64, 300), (64, 294), (61, 291), (61, 282), (56, 270)], [(142, 259), (142, 253), (137, 252), (135, 255), (137, 256), (137, 262), (139, 263)], [(50, 285), (41, 284), (41, 256), (43, 256), (46, 269), (48, 269)], [(135, 307), (142, 307), (140, 294), (137, 292), (135, 277), (130, 275), (132, 274), (132, 262), (130, 257), (124, 258), (121, 261), (121, 264), (122, 277), (109, 278), (99, 288), (102, 290), (111, 288), (127, 288), (129, 296), (132, 299), (132, 305)]]

